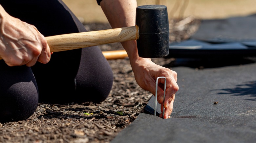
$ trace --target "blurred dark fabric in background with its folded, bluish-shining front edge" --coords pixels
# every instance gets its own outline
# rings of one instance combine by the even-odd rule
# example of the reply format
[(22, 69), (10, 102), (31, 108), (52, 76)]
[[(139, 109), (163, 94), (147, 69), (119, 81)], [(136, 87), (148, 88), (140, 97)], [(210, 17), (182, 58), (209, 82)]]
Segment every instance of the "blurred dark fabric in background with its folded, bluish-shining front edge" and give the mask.
[(256, 14), (202, 20), (189, 40), (171, 43), (168, 57), (213, 58), (256, 55)]

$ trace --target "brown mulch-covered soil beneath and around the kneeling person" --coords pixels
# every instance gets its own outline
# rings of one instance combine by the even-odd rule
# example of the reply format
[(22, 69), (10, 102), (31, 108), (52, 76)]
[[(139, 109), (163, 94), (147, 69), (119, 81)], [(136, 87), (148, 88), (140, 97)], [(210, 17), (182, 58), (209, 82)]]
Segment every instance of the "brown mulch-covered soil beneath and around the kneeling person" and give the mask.
[[(170, 42), (188, 39), (200, 21), (182, 25), (170, 21)], [(88, 31), (111, 28), (105, 23), (84, 24)], [(120, 43), (99, 46), (102, 51), (122, 50)], [(174, 58), (156, 58), (159, 65), (170, 65)], [(143, 112), (152, 93), (141, 89), (134, 79), (129, 59), (108, 60), (114, 73), (114, 84), (109, 97), (101, 103), (69, 105), (38, 104), (27, 120), (0, 123), (2, 143), (106, 143), (131, 124)], [(171, 67), (168, 67), (171, 69)]]

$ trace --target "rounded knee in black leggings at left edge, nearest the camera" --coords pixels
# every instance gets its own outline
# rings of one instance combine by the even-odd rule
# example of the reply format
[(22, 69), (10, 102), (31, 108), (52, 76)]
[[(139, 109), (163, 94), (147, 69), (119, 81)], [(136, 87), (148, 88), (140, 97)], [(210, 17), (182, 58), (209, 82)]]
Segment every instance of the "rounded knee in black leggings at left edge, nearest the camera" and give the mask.
[(28, 119), (36, 110), (38, 106), (37, 89), (35, 87), (24, 89), (24, 84), (27, 83), (15, 84), (0, 93), (0, 122)]

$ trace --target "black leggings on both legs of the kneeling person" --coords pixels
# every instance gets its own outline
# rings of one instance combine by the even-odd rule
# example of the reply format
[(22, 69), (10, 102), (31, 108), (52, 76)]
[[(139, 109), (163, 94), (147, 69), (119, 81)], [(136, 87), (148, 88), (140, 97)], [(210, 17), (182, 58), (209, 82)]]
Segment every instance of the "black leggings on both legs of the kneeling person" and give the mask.
[[(44, 36), (86, 31), (61, 0), (0, 0), (0, 4)], [(112, 85), (112, 69), (98, 47), (55, 52), (49, 63), (37, 62), (31, 68), (9, 67), (0, 60), (0, 122), (29, 118), (38, 102), (101, 102)]]

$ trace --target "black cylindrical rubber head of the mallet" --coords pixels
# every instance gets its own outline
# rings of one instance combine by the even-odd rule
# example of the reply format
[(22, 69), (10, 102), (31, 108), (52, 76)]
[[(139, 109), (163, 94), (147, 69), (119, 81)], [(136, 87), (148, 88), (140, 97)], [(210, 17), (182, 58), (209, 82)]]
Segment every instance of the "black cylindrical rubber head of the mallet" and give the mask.
[(169, 21), (167, 7), (145, 5), (136, 9), (137, 40), (140, 57), (157, 58), (169, 54)]

